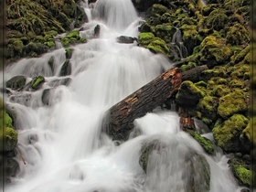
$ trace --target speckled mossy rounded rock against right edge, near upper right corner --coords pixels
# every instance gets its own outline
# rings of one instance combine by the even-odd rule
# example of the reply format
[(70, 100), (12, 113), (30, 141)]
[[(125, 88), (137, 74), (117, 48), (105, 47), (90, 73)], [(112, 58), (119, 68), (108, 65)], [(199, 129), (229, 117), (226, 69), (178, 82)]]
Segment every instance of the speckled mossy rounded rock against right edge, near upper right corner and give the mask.
[(237, 23), (234, 26), (229, 27), (226, 38), (227, 43), (231, 45), (244, 45), (250, 41), (250, 34), (244, 26)]

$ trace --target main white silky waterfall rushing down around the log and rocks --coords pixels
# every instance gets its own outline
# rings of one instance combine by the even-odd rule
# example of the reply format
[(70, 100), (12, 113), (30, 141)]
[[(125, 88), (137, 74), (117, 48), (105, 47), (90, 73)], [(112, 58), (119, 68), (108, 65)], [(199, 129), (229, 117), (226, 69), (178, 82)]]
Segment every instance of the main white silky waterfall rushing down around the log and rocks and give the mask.
[[(91, 13), (89, 7), (85, 9)], [(141, 134), (120, 145), (101, 133), (102, 118), (113, 104), (172, 68), (172, 64), (135, 43), (116, 43), (121, 35), (138, 36), (140, 18), (130, 0), (98, 0), (93, 13), (89, 16), (93, 19), (84, 24), (85, 31), (80, 33), (90, 37), (90, 31), (100, 25), (101, 36), (73, 47), (71, 83), (51, 92), (50, 106), (42, 104), (41, 95), (50, 87), (50, 81), (63, 79), (58, 76), (65, 62), (63, 48), (38, 59), (22, 59), (5, 69), (6, 80), (16, 75), (26, 75), (28, 80), (37, 75), (46, 77), (43, 88), (30, 92), (31, 99), (26, 103), (7, 98), (7, 104), (18, 113), (18, 147), (27, 165), (20, 155), (16, 156), (20, 171), (5, 191), (185, 191), (183, 181), (187, 178), (183, 175), (187, 170), (183, 157), (189, 151), (207, 158), (211, 192), (239, 191), (227, 157), (206, 155), (194, 139), (179, 130), (176, 112), (156, 109), (135, 120), (135, 130)], [(54, 74), (47, 64), (51, 56), (55, 58)], [(165, 156), (151, 159), (146, 175), (139, 158), (142, 144), (153, 140), (168, 148)]]

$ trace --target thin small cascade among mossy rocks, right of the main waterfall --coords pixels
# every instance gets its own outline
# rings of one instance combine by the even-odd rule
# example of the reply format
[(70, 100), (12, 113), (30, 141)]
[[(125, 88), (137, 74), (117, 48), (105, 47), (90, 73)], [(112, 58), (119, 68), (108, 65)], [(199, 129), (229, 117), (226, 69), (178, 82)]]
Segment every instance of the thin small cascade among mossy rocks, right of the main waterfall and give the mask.
[(172, 41), (168, 44), (168, 46), (176, 60), (187, 58), (187, 48), (184, 46), (179, 28), (176, 27), (176, 33), (174, 34)]

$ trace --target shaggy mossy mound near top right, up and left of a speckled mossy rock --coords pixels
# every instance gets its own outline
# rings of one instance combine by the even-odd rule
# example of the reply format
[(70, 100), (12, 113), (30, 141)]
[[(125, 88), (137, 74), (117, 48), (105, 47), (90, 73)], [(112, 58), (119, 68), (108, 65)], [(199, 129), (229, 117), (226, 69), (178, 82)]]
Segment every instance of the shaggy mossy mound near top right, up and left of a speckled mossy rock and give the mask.
[(224, 28), (229, 21), (226, 10), (221, 8), (214, 9), (206, 20), (208, 28), (213, 28), (214, 30), (219, 31)]

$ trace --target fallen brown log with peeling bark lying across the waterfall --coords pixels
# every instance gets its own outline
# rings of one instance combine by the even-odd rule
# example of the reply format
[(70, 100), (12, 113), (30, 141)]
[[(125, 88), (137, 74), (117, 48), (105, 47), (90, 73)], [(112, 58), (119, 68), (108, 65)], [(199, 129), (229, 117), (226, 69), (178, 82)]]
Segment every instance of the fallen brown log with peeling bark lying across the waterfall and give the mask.
[(200, 66), (184, 73), (180, 73), (178, 68), (168, 69), (123, 101), (113, 105), (106, 114), (102, 125), (103, 131), (113, 140), (127, 140), (136, 118), (143, 117), (147, 112), (152, 112), (157, 106), (162, 105), (176, 94), (182, 80), (194, 78), (204, 69), (208, 69), (207, 66)]

